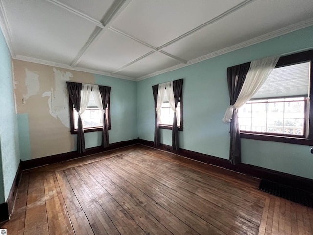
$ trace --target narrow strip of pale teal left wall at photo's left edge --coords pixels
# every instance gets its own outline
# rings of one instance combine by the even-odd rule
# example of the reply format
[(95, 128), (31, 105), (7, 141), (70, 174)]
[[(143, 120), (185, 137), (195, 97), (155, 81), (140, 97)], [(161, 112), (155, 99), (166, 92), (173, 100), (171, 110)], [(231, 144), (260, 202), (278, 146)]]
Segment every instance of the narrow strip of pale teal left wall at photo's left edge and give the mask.
[[(18, 165), (18, 129), (15, 114), (11, 55), (0, 30), (0, 203), (9, 195)], [(2, 171), (2, 172), (1, 172)]]

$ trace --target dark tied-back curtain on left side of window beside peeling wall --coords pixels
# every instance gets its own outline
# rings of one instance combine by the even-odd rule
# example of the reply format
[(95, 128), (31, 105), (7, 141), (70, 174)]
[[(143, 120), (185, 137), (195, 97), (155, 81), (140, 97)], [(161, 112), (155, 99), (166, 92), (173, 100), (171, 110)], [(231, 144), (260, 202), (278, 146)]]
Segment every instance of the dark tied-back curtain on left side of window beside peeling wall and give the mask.
[[(80, 111), (80, 92), (82, 91), (83, 85), (77, 82), (67, 82), (67, 89), (69, 98), (71, 99), (74, 108), (77, 112)], [(78, 116), (77, 122), (77, 152), (84, 153), (85, 150), (85, 136), (82, 119)]]

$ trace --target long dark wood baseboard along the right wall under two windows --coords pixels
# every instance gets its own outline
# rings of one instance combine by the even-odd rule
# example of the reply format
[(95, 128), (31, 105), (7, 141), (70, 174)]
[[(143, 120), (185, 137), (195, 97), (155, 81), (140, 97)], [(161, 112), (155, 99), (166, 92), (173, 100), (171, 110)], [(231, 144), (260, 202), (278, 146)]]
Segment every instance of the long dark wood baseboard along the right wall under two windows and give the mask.
[(228, 169), (228, 170), (233, 170), (233, 171), (243, 173), (249, 176), (253, 176), (256, 178), (260, 178), (260, 179), (270, 180), (273, 182), (277, 182), (279, 184), (283, 184), (283, 185), (290, 186), (293, 188), (302, 189), (302, 190), (313, 193), (313, 180), (312, 179), (308, 179), (308, 178), (304, 178), (304, 177), (300, 177), (296, 175), (291, 175), (291, 174), (287, 174), (287, 173), (283, 173), (283, 172), (279, 172), (275, 170), (270, 170), (270, 169), (262, 168), (262, 167), (255, 166), (255, 165), (249, 165), (245, 163), (233, 165), (233, 164), (230, 164), (227, 159), (218, 158), (218, 157), (214, 157), (214, 156), (207, 155), (207, 154), (202, 154), (202, 153), (198, 153), (198, 152), (194, 152), (194, 151), (190, 151), (186, 149), (172, 150), (171, 146), (165, 145), (165, 144), (160, 144), (160, 146), (155, 146), (153, 141), (146, 141), (146, 140), (139, 139), (138, 143), (149, 146), (149, 147), (169, 151), (169, 152), (181, 155), (183, 157), (197, 160), (203, 163), (216, 165), (216, 166)]

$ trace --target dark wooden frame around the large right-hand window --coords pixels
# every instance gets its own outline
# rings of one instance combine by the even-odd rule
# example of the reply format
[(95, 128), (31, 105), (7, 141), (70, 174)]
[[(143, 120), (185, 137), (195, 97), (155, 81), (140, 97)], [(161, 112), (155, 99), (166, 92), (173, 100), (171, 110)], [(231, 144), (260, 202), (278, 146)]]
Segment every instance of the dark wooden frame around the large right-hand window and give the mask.
[[(307, 107), (306, 113), (309, 113), (308, 119), (309, 124), (304, 126), (307, 128), (308, 138), (303, 137), (295, 137), (288, 135), (276, 135), (276, 134), (261, 134), (255, 132), (248, 131), (240, 131), (240, 137), (246, 139), (253, 140), (262, 140), (262, 141), (274, 141), (274, 142), (283, 142), (283, 143), (292, 143), (292, 144), (300, 144), (300, 145), (313, 145), (313, 100), (311, 101), (311, 97), (313, 98), (313, 50), (299, 52), (287, 56), (282, 56), (279, 58), (275, 68), (288, 66), (292, 64), (298, 64), (302, 62), (310, 61), (310, 74), (309, 74), (309, 98), (306, 102), (309, 102), (309, 107)], [(307, 118), (305, 119), (307, 122)]]

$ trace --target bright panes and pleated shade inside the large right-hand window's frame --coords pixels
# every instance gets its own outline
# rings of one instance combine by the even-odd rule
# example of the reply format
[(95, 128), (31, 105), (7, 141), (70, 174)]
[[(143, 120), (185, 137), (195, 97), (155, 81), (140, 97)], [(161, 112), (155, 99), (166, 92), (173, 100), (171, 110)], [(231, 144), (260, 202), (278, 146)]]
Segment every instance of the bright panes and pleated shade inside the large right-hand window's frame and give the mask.
[(238, 110), (242, 133), (308, 138), (310, 62), (275, 68)]

